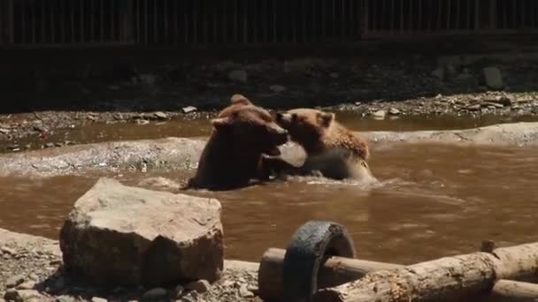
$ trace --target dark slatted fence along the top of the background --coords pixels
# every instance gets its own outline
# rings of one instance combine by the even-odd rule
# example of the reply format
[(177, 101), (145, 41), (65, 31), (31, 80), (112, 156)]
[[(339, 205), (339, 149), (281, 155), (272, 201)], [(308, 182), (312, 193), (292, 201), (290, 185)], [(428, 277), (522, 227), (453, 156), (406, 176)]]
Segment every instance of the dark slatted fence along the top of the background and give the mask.
[(8, 47), (536, 32), (536, 0), (0, 0), (0, 45)]

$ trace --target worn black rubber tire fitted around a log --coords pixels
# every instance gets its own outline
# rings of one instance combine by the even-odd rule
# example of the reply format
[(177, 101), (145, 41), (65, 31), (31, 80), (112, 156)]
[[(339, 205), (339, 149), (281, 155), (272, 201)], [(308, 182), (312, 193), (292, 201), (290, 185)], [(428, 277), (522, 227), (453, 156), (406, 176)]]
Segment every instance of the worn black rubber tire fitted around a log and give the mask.
[(355, 258), (353, 240), (338, 223), (304, 223), (291, 238), (283, 263), (286, 301), (311, 301), (318, 291), (320, 266), (330, 256)]

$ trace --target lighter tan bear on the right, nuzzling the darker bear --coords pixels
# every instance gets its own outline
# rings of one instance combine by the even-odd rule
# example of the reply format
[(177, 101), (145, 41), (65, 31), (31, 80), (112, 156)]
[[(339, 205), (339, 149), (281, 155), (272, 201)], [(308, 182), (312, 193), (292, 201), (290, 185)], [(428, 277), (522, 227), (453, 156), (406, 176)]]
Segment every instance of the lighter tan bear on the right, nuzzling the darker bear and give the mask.
[(278, 113), (276, 123), (288, 131), (291, 140), (302, 146), (307, 155), (301, 167), (274, 158), (271, 165), (277, 173), (311, 175), (318, 172), (328, 178), (377, 182), (367, 164), (370, 150), (366, 140), (338, 123), (334, 113), (292, 109)]

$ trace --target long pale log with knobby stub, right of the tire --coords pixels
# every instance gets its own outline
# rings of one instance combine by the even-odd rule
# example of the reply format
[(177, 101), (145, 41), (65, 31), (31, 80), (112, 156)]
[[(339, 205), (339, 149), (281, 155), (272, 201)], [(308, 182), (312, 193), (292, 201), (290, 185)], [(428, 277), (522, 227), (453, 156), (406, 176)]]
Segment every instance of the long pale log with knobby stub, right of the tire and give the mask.
[(538, 272), (538, 243), (469, 253), (370, 273), (318, 291), (316, 301), (442, 301), (488, 291), (496, 278), (519, 280)]

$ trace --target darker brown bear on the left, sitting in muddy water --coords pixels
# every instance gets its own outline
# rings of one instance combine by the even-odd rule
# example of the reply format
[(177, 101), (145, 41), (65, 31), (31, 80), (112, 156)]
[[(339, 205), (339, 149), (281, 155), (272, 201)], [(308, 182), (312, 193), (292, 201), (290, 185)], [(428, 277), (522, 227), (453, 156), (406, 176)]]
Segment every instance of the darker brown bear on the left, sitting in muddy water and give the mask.
[(265, 109), (253, 105), (242, 94), (211, 120), (211, 137), (200, 156), (196, 176), (185, 188), (230, 190), (265, 180), (262, 155), (280, 155), (278, 146), (288, 141), (288, 132), (276, 125)]

